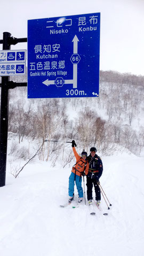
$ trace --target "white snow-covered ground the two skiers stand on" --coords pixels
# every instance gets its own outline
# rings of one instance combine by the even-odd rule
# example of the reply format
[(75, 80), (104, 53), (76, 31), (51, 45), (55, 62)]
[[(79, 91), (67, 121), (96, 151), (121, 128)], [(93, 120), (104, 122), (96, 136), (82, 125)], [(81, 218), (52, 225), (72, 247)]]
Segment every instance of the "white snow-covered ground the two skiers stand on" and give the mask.
[(14, 179), (8, 164), (6, 185), (0, 188), (0, 255), (142, 256), (144, 158), (123, 153), (102, 161), (101, 186), (113, 204), (107, 210), (101, 199), (108, 216), (96, 207), (97, 214), (90, 215), (87, 202), (60, 208), (68, 199), (70, 168), (36, 160)]

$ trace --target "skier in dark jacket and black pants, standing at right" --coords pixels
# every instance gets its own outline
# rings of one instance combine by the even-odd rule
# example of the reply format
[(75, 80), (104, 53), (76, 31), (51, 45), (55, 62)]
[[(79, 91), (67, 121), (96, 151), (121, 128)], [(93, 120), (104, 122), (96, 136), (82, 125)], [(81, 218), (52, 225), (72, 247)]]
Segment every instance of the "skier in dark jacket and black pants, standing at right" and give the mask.
[(87, 200), (89, 201), (89, 204), (92, 204), (92, 188), (94, 185), (95, 200), (99, 206), (101, 200), (101, 192), (98, 183), (102, 175), (103, 166), (100, 157), (98, 157), (96, 154), (97, 149), (93, 147), (90, 149), (90, 152), (90, 156), (87, 157), (89, 162), (89, 173), (86, 175)]

